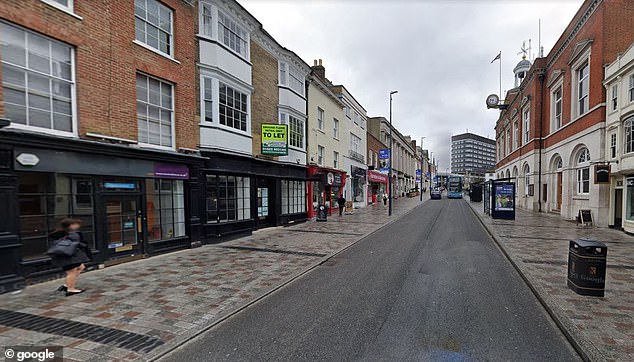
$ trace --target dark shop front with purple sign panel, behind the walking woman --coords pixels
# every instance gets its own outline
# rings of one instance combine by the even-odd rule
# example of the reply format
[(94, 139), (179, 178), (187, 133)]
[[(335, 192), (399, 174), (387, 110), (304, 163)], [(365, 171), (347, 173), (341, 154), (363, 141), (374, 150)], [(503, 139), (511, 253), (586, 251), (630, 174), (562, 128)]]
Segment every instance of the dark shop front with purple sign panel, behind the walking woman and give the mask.
[[(59, 273), (46, 255), (48, 235), (67, 217), (82, 220), (95, 265), (188, 248), (199, 240), (197, 214), (188, 208), (196, 182), (190, 174), (199, 157), (55, 139), (12, 143), (3, 135), (0, 200), (10, 209), (0, 212), (4, 291)], [(45, 147), (49, 142), (55, 148)]]

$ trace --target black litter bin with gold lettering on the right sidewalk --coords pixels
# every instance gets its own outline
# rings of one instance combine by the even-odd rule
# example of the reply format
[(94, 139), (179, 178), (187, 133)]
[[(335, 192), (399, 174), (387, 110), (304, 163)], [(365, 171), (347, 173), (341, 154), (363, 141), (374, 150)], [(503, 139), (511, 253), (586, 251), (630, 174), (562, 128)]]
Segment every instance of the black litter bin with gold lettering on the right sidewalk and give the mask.
[(570, 240), (568, 287), (580, 295), (603, 297), (608, 247), (590, 238)]

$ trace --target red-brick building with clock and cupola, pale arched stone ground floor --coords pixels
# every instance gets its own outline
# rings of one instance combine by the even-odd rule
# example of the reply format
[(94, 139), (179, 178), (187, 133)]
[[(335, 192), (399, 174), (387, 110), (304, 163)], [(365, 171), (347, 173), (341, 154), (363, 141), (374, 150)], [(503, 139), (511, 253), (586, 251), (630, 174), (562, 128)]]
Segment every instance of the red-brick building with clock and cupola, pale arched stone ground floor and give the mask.
[(634, 4), (586, 0), (550, 53), (523, 59), (496, 123), (497, 177), (517, 180), (519, 207), (574, 219), (590, 209), (608, 225), (609, 185), (595, 183), (606, 161), (604, 65), (634, 41)]

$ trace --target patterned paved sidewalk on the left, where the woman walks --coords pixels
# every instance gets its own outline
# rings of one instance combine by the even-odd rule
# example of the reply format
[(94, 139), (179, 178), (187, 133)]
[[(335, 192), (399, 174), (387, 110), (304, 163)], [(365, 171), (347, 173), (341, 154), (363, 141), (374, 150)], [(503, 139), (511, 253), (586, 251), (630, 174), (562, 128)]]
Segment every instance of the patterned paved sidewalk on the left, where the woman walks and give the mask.
[(391, 218), (369, 206), (88, 272), (87, 291), (69, 298), (54, 292), (61, 279), (0, 295), (0, 353), (61, 345), (65, 361), (155, 359), (418, 205), (401, 198)]

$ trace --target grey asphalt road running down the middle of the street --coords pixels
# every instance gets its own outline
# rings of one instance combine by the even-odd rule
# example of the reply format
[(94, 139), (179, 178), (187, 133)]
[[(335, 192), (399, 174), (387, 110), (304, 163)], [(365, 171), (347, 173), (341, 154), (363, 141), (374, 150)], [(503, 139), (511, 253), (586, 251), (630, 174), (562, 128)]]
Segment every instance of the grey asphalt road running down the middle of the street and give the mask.
[(580, 358), (469, 206), (443, 199), (425, 202), (165, 359)]

